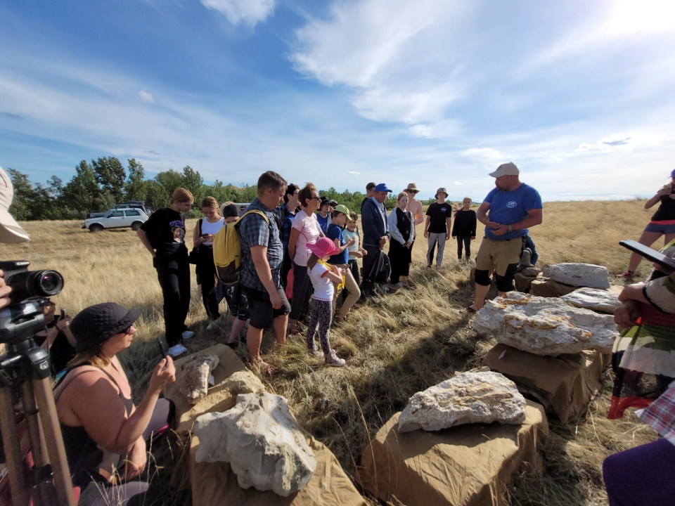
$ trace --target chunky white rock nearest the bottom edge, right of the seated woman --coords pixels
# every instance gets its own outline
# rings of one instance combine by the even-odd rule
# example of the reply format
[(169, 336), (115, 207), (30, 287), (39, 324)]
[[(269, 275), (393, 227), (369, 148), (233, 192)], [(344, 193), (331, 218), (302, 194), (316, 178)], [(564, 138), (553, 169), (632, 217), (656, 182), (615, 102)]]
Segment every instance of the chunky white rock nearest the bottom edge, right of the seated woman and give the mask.
[(288, 495), (309, 483), (314, 453), (282, 396), (240, 394), (225, 413), (198, 417), (196, 462), (229, 462), (242, 488)]

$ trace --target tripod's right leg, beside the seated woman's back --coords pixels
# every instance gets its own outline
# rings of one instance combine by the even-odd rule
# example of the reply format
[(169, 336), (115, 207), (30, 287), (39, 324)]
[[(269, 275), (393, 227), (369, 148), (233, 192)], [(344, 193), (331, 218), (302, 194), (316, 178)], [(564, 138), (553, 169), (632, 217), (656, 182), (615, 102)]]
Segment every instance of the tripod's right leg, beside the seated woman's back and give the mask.
[(75, 495), (72, 491), (68, 458), (65, 455), (61, 426), (56, 415), (56, 403), (51, 393), (49, 377), (42, 380), (33, 380), (35, 400), (37, 401), (44, 440), (46, 442), (53, 481), (56, 486), (56, 496), (60, 506), (75, 506)]

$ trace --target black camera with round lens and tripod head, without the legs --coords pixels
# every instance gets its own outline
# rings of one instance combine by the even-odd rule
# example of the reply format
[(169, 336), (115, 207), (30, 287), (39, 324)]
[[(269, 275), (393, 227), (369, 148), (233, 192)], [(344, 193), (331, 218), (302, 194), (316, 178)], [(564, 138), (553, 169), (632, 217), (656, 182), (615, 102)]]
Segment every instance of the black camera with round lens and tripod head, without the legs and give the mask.
[[(45, 269), (29, 271), (29, 261), (0, 261), (5, 284), (12, 288), (11, 304), (0, 309), (0, 343), (24, 349), (44, 328), (42, 306), (63, 290), (63, 276)], [(26, 344), (23, 344), (26, 343)]]

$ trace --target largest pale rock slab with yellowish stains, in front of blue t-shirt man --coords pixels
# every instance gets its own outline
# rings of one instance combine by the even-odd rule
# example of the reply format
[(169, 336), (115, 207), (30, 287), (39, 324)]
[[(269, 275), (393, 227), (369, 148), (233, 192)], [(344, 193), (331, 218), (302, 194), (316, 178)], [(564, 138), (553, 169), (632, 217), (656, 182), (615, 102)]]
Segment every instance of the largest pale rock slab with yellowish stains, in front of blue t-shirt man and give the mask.
[(619, 335), (611, 315), (520, 292), (486, 301), (476, 313), (473, 330), (522, 351), (551, 356), (586, 349), (611, 353)]

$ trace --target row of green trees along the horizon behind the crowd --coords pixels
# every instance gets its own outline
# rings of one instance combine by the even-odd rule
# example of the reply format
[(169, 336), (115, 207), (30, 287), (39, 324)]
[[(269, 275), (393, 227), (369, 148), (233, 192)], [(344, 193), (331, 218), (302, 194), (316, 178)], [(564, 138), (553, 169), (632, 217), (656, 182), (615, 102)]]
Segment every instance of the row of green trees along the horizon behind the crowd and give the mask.
[[(127, 160), (127, 167), (115, 157), (98, 157), (98, 160), (82, 160), (75, 167), (75, 176), (68, 183), (57, 176), (51, 176), (46, 183), (32, 183), (26, 174), (7, 169), (14, 185), (14, 200), (10, 212), (15, 219), (51, 220), (84, 219), (89, 212), (104, 212), (124, 200), (141, 200), (150, 209), (161, 209), (169, 205), (169, 199), (176, 188), (183, 187), (195, 195), (195, 207), (188, 217), (201, 216), (198, 209), (203, 197), (210, 195), (218, 202), (251, 202), (256, 195), (255, 184), (243, 187), (224, 184), (216, 180), (205, 184), (199, 171), (189, 165), (181, 171), (169, 169), (146, 179), (143, 165), (134, 158)], [(283, 175), (283, 174), (282, 174)], [(291, 181), (304, 186), (304, 181)], [(335, 188), (320, 190), (322, 196), (346, 205), (350, 210), (361, 212), (364, 193), (359, 191), (342, 193)], [(385, 202), (387, 209), (396, 205), (396, 195)]]

